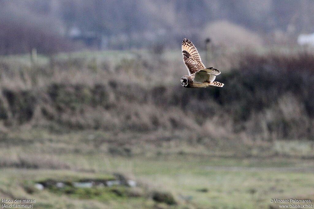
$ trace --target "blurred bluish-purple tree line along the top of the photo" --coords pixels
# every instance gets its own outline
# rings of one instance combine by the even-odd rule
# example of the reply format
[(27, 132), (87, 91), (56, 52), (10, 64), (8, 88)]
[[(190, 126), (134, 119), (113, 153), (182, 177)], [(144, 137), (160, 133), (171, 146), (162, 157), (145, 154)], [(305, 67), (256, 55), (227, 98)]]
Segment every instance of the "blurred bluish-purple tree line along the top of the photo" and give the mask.
[(206, 24), (221, 19), (265, 37), (280, 31), (295, 38), (314, 31), (313, 9), (309, 0), (2, 0), (0, 54), (84, 47), (84, 40), (70, 40), (73, 28), (92, 36), (98, 49), (171, 47), (183, 36), (198, 38)]

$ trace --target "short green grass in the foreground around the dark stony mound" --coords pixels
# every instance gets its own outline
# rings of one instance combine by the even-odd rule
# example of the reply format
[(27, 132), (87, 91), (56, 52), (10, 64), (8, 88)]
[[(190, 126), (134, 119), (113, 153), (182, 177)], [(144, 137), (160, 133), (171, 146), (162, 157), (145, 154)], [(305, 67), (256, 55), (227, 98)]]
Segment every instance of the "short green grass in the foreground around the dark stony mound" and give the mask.
[[(2, 169), (1, 198), (35, 199), (35, 208), (269, 208), (270, 205), (276, 208), (279, 205), (271, 204), (270, 199), (313, 201), (314, 168), (308, 161), (177, 155), (156, 159), (72, 156), (75, 157), (80, 159), (77, 163), (85, 160), (93, 163), (93, 167), (98, 164), (99, 171)], [(285, 167), (281, 167), (282, 164)], [(300, 170), (290, 169), (287, 165), (297, 166)], [(139, 196), (70, 196), (47, 189), (29, 194), (25, 189), (25, 186), (42, 179), (100, 177), (110, 175), (108, 170), (132, 175), (139, 184), (134, 188)], [(155, 203), (150, 197), (154, 190), (171, 192), (177, 205)]]

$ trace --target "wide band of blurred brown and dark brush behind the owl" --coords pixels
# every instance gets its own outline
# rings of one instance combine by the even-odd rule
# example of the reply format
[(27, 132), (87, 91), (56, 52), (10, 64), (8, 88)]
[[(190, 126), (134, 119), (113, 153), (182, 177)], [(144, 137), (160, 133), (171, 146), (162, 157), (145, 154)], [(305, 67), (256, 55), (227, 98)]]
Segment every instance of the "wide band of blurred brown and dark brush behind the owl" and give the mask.
[[(237, 136), (249, 140), (314, 138), (312, 53), (243, 53), (239, 67), (217, 78), (225, 83), (223, 88), (205, 89), (182, 88), (181, 74), (174, 70), (177, 65), (184, 67), (181, 60), (180, 65), (179, 60), (162, 55), (154, 55), (160, 62), (150, 54), (135, 56), (136, 62), (125, 58), (110, 65), (107, 59), (106, 65), (94, 59), (97, 66), (92, 68), (85, 58), (75, 67), (73, 58), (62, 62), (55, 58), (52, 64), (41, 66), (32, 86), (24, 85), (20, 74), (10, 67), (15, 63), (3, 61), (0, 120), (7, 127), (30, 124), (59, 131), (129, 133), (122, 137), (125, 141), (138, 139), (133, 133), (152, 132), (158, 134), (144, 138), (205, 144), (208, 138)], [(54, 70), (46, 74), (49, 69)], [(23, 72), (26, 77), (31, 73)], [(131, 154), (115, 147), (108, 151)]]

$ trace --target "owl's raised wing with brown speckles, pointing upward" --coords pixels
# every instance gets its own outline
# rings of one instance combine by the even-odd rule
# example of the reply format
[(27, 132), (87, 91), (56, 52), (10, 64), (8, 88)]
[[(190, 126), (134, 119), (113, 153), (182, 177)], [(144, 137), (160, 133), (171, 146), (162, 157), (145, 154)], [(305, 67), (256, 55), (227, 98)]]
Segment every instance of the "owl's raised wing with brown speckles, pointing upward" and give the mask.
[(187, 66), (190, 75), (205, 68), (197, 49), (189, 39), (183, 39), (182, 54), (184, 64)]

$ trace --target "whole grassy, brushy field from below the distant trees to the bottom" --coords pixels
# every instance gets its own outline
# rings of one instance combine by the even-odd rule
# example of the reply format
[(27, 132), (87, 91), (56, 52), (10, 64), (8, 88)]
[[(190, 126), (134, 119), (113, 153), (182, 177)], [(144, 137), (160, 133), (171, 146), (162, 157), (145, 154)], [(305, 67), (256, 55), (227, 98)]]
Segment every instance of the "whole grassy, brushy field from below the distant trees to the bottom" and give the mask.
[(0, 197), (34, 208), (313, 202), (314, 53), (221, 51), (224, 88), (191, 90), (179, 52), (0, 57)]

